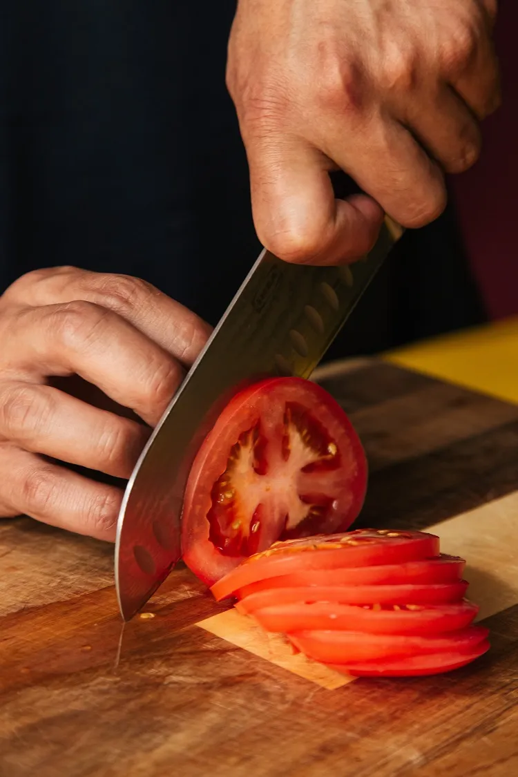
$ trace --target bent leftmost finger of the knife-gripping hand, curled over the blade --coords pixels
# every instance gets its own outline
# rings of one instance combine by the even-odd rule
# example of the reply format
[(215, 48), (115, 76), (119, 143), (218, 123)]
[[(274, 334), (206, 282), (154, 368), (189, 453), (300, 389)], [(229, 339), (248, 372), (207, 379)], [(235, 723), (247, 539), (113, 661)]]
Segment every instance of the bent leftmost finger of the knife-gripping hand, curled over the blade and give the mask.
[(383, 213), (370, 197), (335, 200), (329, 159), (301, 138), (247, 144), (259, 239), (280, 259), (339, 264), (374, 245)]

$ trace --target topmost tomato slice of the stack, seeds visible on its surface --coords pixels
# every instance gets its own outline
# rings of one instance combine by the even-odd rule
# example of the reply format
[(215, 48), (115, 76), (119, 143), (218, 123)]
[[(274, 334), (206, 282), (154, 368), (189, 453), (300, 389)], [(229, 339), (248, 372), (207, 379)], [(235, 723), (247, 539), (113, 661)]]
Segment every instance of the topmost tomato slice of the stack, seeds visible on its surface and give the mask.
[(438, 555), (439, 538), (435, 535), (422, 531), (356, 529), (340, 535), (276, 543), (232, 570), (211, 591), (220, 600), (266, 578), (309, 570), (400, 564)]

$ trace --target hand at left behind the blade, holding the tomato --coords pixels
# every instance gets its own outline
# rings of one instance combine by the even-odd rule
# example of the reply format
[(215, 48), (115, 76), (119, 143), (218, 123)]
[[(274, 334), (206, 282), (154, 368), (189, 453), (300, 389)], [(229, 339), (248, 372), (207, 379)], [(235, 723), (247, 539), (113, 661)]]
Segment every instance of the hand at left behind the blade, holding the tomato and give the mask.
[(209, 333), (137, 278), (61, 267), (16, 280), (0, 298), (0, 517), (113, 540), (120, 488), (54, 460), (127, 479)]

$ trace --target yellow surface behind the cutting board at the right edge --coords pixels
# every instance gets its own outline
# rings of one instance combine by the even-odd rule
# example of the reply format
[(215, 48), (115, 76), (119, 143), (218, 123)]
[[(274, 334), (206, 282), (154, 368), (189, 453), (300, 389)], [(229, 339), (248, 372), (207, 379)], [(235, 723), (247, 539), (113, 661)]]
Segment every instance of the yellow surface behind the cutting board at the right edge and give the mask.
[(518, 403), (518, 318), (414, 343), (384, 358)]

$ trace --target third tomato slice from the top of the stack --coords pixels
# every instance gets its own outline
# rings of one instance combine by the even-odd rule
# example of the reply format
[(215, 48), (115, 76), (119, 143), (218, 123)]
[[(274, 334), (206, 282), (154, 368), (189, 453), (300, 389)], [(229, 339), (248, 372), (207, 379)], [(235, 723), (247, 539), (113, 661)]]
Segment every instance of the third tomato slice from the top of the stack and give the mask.
[(253, 615), (273, 605), (312, 604), (331, 601), (342, 605), (443, 605), (461, 601), (468, 590), (466, 580), (457, 583), (416, 585), (342, 585), (298, 588), (267, 588), (238, 602), (239, 611)]

